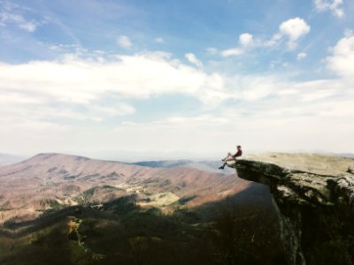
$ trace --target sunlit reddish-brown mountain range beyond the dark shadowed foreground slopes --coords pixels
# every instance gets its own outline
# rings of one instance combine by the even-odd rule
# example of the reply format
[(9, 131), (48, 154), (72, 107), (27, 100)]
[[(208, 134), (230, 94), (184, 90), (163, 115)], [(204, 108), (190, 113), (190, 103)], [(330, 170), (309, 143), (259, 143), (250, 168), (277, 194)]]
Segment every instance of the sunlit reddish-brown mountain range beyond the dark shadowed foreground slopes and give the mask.
[(250, 182), (215, 170), (214, 163), (120, 163), (76, 155), (41, 154), (0, 167), (0, 223), (23, 222), (43, 212), (98, 205), (136, 194), (143, 207), (165, 211), (196, 207), (241, 192)]

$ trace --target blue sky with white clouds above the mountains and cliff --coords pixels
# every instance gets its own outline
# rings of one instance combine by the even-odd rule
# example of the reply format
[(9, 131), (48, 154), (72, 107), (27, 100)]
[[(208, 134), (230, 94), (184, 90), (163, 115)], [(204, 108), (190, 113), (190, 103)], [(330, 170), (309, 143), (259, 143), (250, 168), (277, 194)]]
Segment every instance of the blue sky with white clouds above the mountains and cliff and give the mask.
[(0, 0), (0, 152), (354, 153), (353, 31), (354, 0)]

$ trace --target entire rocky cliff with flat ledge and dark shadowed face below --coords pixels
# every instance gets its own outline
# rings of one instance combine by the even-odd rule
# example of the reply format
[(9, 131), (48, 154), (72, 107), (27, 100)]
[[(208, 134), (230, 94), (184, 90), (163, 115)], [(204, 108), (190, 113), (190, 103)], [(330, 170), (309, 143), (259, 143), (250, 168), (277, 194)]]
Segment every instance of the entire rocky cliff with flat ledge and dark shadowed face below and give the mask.
[(229, 166), (270, 187), (289, 264), (354, 264), (354, 159), (273, 153)]

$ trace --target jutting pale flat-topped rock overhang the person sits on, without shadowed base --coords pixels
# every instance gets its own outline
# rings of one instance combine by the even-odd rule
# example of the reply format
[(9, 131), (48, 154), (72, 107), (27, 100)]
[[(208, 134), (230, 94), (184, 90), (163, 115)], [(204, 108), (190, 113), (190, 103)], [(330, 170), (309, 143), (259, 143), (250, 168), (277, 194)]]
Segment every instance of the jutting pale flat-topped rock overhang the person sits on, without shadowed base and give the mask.
[(280, 203), (332, 206), (354, 201), (353, 164), (337, 155), (266, 153), (228, 165), (238, 177), (269, 186)]

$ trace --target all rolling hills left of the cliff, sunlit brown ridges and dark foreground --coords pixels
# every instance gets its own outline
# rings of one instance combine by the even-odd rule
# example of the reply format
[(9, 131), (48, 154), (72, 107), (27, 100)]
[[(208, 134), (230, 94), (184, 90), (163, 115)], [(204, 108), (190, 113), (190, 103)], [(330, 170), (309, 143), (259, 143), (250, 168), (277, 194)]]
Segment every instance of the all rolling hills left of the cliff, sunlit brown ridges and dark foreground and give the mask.
[(40, 154), (0, 167), (0, 264), (273, 264), (266, 186), (167, 164)]

